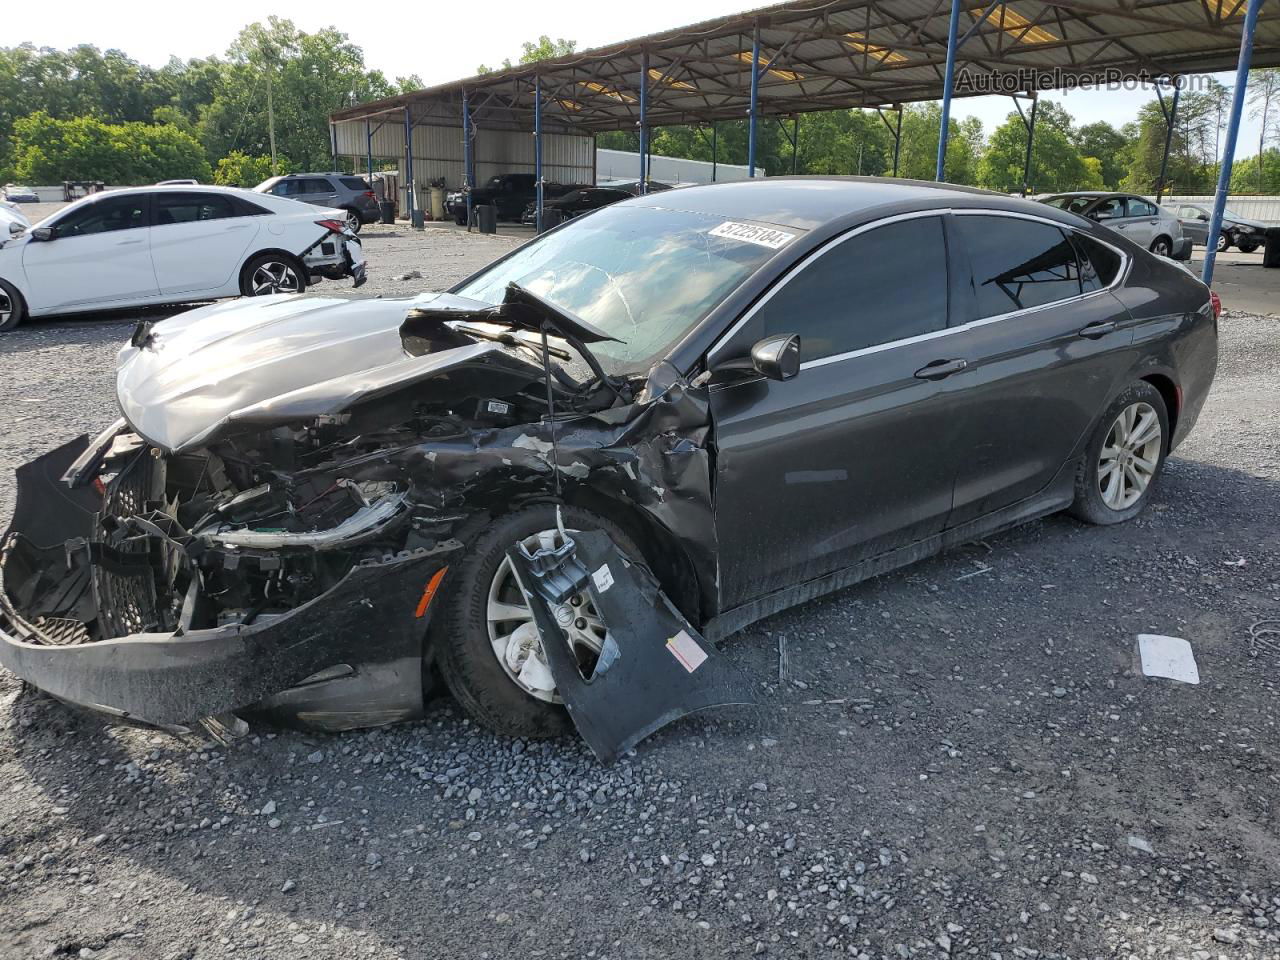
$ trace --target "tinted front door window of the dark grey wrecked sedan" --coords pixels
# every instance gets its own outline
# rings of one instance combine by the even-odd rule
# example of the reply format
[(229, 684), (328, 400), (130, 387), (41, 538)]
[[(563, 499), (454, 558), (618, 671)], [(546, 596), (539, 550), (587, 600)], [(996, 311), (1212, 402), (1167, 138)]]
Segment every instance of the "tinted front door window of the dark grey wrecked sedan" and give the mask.
[(901, 340), (947, 325), (942, 220), (923, 216), (837, 243), (760, 307), (762, 337), (800, 334), (800, 358)]

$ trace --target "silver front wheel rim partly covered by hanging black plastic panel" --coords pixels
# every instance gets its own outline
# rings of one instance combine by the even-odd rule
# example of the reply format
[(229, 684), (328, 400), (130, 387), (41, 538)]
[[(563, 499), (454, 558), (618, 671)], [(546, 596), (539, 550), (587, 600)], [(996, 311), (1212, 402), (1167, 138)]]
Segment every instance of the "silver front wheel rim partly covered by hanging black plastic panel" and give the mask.
[[(525, 549), (536, 550), (554, 549), (564, 541), (558, 530), (543, 530), (522, 543)], [(584, 591), (571, 598), (567, 603), (554, 607), (552, 614), (568, 637), (579, 664), (588, 671), (600, 655), (600, 648), (608, 636), (590, 594)], [(529, 609), (516, 582), (511, 561), (506, 557), (489, 585), (485, 620), (493, 655), (511, 682), (532, 698), (547, 703), (561, 703), (556, 692), (556, 680), (543, 652), (541, 635), (534, 623), (534, 613)]]

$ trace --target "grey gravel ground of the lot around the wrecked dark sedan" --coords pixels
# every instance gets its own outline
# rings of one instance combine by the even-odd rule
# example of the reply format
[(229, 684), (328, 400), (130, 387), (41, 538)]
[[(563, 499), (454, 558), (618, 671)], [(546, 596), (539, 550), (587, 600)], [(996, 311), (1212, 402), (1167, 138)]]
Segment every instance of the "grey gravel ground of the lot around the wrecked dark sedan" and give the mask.
[[(511, 246), (381, 230), (375, 293)], [(127, 329), (0, 339), (0, 470), (101, 426)], [(0, 676), (0, 956), (1280, 956), (1277, 664), (1249, 644), (1280, 617), (1277, 344), (1224, 320), (1139, 520), (1051, 517), (759, 623), (726, 643), (759, 708), (607, 769), (447, 700), (224, 748)], [(1201, 685), (1144, 678), (1138, 632), (1187, 637)]]

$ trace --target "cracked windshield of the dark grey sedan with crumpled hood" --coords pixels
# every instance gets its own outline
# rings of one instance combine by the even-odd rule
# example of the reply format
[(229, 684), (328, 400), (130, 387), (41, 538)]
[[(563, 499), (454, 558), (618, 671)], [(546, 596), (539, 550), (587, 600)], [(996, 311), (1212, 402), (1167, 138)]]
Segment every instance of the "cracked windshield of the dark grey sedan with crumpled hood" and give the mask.
[[(500, 303), (507, 284), (518, 283), (622, 340), (591, 346), (611, 374), (644, 372), (777, 252), (776, 241), (713, 233), (732, 233), (723, 227), (722, 216), (684, 210), (604, 209), (525, 246), (456, 293)], [(796, 236), (795, 228), (756, 233)]]

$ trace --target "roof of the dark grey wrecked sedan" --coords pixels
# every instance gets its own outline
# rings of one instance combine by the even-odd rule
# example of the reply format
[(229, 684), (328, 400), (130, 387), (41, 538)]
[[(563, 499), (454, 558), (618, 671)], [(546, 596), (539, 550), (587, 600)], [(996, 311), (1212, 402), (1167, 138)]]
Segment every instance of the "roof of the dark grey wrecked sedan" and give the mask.
[[(849, 223), (891, 209), (937, 209), (948, 205), (988, 207), (1055, 216), (1053, 207), (977, 187), (883, 177), (768, 177), (727, 180), (646, 193), (623, 206), (678, 209), (726, 219), (758, 220), (812, 230)], [(1061, 211), (1057, 211), (1061, 212)], [(1075, 223), (1066, 219), (1065, 223)]]

